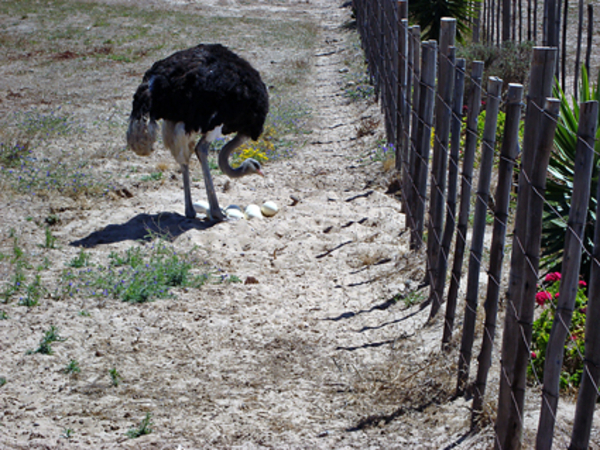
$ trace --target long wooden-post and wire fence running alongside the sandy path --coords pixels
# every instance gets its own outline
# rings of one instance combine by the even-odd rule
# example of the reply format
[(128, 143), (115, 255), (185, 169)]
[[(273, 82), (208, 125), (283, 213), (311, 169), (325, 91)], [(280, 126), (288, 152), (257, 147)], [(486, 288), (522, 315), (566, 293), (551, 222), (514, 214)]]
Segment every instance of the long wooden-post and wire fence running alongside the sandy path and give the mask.
[[(557, 49), (536, 47), (533, 50), (530, 79), (534, 82), (529, 84), (523, 120), (523, 86), (508, 86), (504, 105), (504, 134), (502, 144), (497, 145), (502, 80), (491, 77), (484, 83), (482, 62), (473, 62), (467, 75), (466, 62), (455, 56), (454, 19), (442, 19), (439, 43), (421, 42), (419, 28), (408, 26), (405, 1), (354, 0), (354, 7), (369, 72), (381, 100), (387, 139), (396, 146), (396, 168), (403, 187), (402, 205), (413, 250), (419, 251), (424, 247), (427, 230), (427, 246), (424, 249), (427, 255), (426, 282), (429, 286), (427, 304), (431, 305), (430, 320), (437, 316), (443, 303), (446, 304), (442, 338), (444, 348), (448, 347), (454, 331), (470, 210), (474, 204), (456, 394), (464, 395), (467, 391), (473, 393), (473, 423), (476, 425), (483, 408), (488, 372), (495, 353), (501, 359), (494, 427), (496, 448), (519, 448), (527, 370), (531, 364), (532, 376), (539, 385), (543, 385), (540, 391), (542, 398), (537, 447), (550, 448), (559, 401), (565, 340), (567, 337), (580, 337), (570, 331), (570, 323), (580, 281), (581, 254), (588, 251), (583, 239), (589, 213), (593, 161), (597, 156), (594, 143), (598, 103), (587, 101), (579, 106), (578, 129), (575, 124), (576, 131), (571, 136), (573, 143), (576, 143), (576, 153), (570, 213), (566, 218), (560, 211), (555, 211), (565, 229), (564, 256), (560, 296), (557, 294), (552, 299), (556, 313), (542, 381), (532, 364), (531, 343), (536, 300), (541, 302), (537, 290), (542, 221), (544, 211), (551, 207), (551, 203), (545, 199), (547, 171), (561, 106), (559, 100), (551, 98)], [(485, 101), (486, 115), (483, 134), (479, 135), (482, 99)], [(464, 141), (461, 142), (463, 109), (466, 110), (466, 121)], [(519, 144), (522, 122), (524, 131), (522, 144)], [(564, 128), (561, 129), (564, 131)], [(474, 176), (479, 142), (479, 167), (477, 176)], [(519, 147), (522, 150), (520, 156)], [(459, 157), (461, 152), (462, 156)], [(496, 163), (498, 181), (492, 196), (490, 185)], [(520, 166), (518, 197), (516, 210), (512, 214), (509, 205), (517, 163)], [(460, 197), (457, 195), (459, 178)], [(477, 186), (473, 193), (475, 179)], [(458, 205), (457, 198), (460, 198)], [(600, 198), (600, 190), (596, 198)], [(596, 207), (598, 214), (600, 205)], [(479, 275), (485, 264), (484, 238), (490, 219), (493, 225), (483, 340), (477, 375), (475, 381), (469, 383), (480, 297)], [(504, 293), (504, 332), (498, 351), (494, 337), (501, 296), (505, 237), (510, 222), (515, 227), (508, 290)], [(600, 327), (593, 327), (600, 320), (600, 225), (595, 227), (594, 238), (593, 251), (588, 255), (592, 264), (589, 301), (585, 311), (585, 356), (582, 349), (576, 348), (575, 351), (575, 358), (583, 365), (583, 373), (571, 436), (572, 449), (588, 446), (600, 378)], [(451, 253), (453, 241), (455, 245)], [(444, 296), (452, 255), (450, 286)], [(552, 297), (549, 292), (547, 294)]]

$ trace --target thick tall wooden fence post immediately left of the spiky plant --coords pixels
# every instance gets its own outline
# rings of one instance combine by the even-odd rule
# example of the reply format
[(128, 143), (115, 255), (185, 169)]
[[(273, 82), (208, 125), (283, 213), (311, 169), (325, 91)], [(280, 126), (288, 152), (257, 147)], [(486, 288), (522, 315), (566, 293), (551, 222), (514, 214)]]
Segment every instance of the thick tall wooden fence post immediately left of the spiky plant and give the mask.
[[(500, 392), (498, 398), (498, 413), (496, 417), (496, 449), (516, 448), (520, 441), (525, 391), (515, 392), (516, 352), (522, 342), (521, 324), (524, 319), (520, 316), (524, 286), (526, 232), (528, 228), (529, 197), (531, 187), (526, 176), (531, 177), (533, 159), (538, 147), (540, 122), (544, 115), (542, 105), (551, 95), (554, 82), (554, 68), (557, 52), (555, 48), (535, 47), (531, 63), (529, 83), (529, 100), (525, 113), (525, 131), (523, 136), (523, 155), (521, 157), (521, 172), (519, 174), (519, 196), (515, 214), (515, 229), (508, 292), (506, 294), (506, 314), (504, 316), (504, 333), (502, 337), (502, 362), (500, 376)], [(531, 305), (533, 306), (533, 305)], [(531, 338), (529, 338), (531, 339)]]

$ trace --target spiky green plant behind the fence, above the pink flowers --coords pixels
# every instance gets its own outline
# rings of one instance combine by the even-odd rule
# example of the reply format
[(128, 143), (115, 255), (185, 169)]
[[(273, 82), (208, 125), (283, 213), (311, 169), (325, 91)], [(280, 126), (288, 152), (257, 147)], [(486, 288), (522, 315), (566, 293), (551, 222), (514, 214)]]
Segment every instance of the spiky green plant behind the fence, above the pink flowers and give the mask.
[[(596, 86), (591, 86), (585, 67), (582, 70), (580, 101), (600, 101), (600, 73)], [(560, 271), (565, 232), (573, 195), (573, 176), (575, 173), (575, 151), (577, 148), (577, 128), (579, 124), (579, 103), (572, 99), (570, 103), (560, 88), (555, 87), (554, 95), (560, 99), (560, 118), (554, 137), (554, 151), (548, 166), (549, 177), (546, 183), (546, 205), (542, 231), (541, 267), (548, 272)], [(600, 162), (600, 117), (598, 117), (596, 144), (594, 149), (594, 167), (590, 204), (583, 238), (584, 251), (581, 256), (580, 273), (587, 279), (590, 271), (590, 254), (593, 248), (594, 224), (596, 222), (596, 198), (598, 187), (598, 163)]]

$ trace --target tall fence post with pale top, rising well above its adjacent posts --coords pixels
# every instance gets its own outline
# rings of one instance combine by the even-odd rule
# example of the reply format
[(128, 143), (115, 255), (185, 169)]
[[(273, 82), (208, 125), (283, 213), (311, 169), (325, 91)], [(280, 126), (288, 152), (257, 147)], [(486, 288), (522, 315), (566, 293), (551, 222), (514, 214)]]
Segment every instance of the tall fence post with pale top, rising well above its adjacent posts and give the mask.
[(434, 299), (437, 277), (437, 258), (442, 243), (444, 206), (446, 204), (446, 173), (448, 171), (448, 141), (452, 120), (452, 95), (454, 91), (454, 41), (456, 19), (443, 17), (440, 23), (439, 80), (435, 105), (435, 139), (431, 184), (429, 188), (429, 221), (427, 224), (427, 269), (429, 300), (441, 305), (441, 298)]

